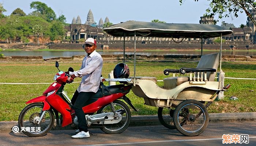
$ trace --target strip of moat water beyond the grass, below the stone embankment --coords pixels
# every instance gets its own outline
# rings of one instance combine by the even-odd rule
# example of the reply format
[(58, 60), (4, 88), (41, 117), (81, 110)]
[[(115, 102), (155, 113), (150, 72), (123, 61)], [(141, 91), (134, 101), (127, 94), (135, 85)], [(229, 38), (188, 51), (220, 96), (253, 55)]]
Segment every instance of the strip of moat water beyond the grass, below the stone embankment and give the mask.
[[(203, 54), (217, 53), (219, 51), (204, 51)], [(54, 57), (72, 57), (74, 55), (85, 55), (84, 51), (1, 51), (4, 56), (42, 56), (43, 59)], [(98, 51), (101, 55), (123, 54), (123, 51)], [(133, 52), (125, 52), (125, 54), (133, 54)], [(137, 55), (201, 55), (201, 51), (143, 51), (136, 52)], [(256, 51), (222, 51), (223, 55), (256, 55)]]

